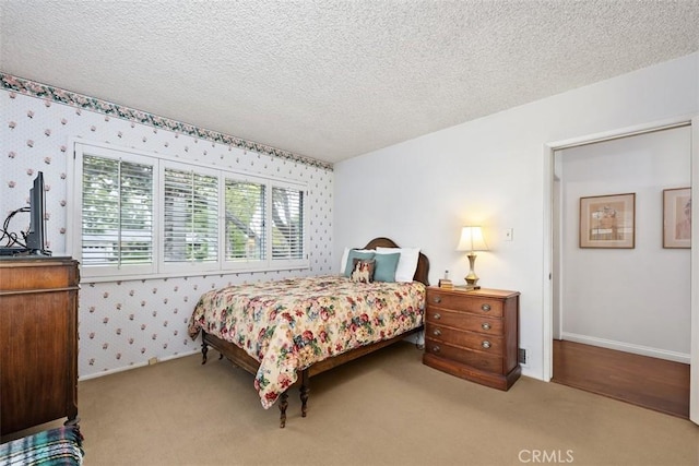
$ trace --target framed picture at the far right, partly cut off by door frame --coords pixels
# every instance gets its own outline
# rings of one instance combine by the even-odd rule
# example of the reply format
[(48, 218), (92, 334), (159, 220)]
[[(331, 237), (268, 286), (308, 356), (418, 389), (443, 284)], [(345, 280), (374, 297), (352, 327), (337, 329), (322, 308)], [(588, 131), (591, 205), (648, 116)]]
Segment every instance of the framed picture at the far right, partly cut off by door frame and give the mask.
[(663, 190), (663, 248), (691, 248), (691, 189)]

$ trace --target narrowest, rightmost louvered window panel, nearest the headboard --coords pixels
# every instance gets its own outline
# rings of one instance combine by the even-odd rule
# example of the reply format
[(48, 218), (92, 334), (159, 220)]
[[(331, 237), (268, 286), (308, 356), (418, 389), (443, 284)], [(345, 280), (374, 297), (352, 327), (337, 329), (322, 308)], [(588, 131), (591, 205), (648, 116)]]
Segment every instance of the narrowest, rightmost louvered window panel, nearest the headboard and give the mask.
[(304, 191), (272, 188), (272, 260), (304, 259)]

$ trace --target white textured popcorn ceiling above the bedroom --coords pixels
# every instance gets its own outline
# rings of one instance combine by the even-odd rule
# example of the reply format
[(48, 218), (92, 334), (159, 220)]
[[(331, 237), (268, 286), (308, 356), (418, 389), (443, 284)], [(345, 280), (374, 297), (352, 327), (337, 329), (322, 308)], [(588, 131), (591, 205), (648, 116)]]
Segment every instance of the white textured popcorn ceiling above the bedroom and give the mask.
[(0, 71), (330, 163), (699, 49), (699, 0), (0, 0)]

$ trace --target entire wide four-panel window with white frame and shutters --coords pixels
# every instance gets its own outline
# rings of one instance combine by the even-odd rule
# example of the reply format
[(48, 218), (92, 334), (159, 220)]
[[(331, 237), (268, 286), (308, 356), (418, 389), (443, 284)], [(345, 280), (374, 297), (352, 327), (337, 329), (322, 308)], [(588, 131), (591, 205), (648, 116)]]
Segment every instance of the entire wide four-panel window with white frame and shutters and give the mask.
[(75, 175), (85, 276), (308, 266), (300, 184), (84, 142)]

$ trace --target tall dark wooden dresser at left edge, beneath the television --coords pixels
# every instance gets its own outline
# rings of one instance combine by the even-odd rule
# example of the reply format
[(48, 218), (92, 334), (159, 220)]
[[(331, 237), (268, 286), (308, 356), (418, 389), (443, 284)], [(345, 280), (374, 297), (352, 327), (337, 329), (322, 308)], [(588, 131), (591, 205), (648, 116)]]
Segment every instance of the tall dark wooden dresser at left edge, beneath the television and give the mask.
[(0, 259), (0, 433), (78, 421), (78, 262)]

